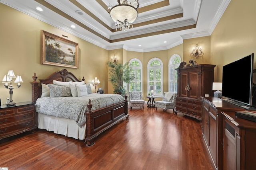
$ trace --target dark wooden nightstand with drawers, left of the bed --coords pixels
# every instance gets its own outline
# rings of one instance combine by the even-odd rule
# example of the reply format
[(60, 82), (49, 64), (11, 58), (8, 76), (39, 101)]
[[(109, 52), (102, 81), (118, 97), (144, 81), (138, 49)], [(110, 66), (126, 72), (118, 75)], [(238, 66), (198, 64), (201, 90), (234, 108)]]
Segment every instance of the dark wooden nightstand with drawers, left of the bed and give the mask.
[(34, 123), (35, 104), (17, 103), (16, 106), (0, 107), (0, 140), (25, 131), (36, 129)]

